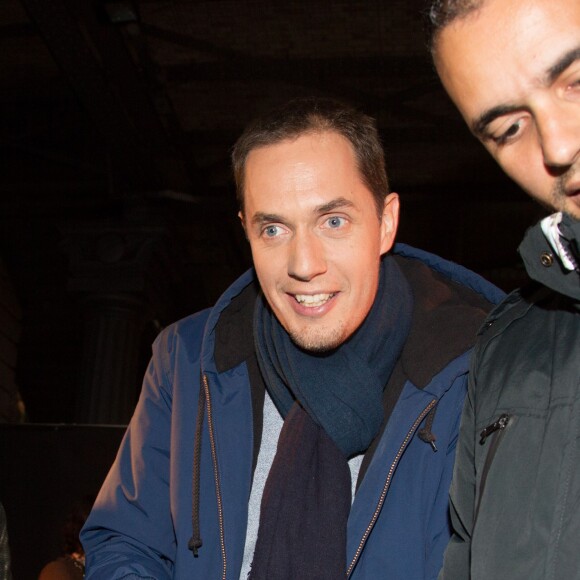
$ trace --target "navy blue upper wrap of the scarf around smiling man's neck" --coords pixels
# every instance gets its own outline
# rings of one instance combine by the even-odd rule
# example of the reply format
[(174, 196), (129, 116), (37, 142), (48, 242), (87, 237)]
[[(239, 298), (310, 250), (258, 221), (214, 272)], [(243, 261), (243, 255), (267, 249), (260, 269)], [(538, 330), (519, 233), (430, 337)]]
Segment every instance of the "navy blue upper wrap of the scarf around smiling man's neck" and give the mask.
[(381, 261), (377, 296), (363, 324), (326, 353), (296, 346), (258, 297), (258, 363), (282, 416), (298, 401), (346, 457), (365, 451), (382, 424), (383, 390), (405, 344), (412, 310), (409, 284), (390, 256)]

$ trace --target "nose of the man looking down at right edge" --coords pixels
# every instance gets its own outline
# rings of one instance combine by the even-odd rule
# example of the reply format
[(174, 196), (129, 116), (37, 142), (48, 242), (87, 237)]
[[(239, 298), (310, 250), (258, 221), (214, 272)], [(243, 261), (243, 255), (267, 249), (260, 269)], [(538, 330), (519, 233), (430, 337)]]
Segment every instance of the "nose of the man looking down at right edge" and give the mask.
[(555, 104), (538, 119), (546, 167), (566, 169), (580, 157), (580, 105)]

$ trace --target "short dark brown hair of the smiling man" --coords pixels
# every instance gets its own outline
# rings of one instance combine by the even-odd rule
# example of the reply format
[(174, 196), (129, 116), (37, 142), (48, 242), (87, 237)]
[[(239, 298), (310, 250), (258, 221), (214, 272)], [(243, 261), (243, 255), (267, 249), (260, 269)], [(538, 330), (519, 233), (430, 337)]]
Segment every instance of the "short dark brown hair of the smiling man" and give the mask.
[(350, 142), (361, 178), (373, 194), (381, 216), (389, 183), (374, 119), (340, 101), (314, 97), (292, 100), (259, 117), (237, 140), (232, 164), (240, 210), (244, 211), (246, 160), (251, 151), (307, 133), (324, 132), (338, 133)]

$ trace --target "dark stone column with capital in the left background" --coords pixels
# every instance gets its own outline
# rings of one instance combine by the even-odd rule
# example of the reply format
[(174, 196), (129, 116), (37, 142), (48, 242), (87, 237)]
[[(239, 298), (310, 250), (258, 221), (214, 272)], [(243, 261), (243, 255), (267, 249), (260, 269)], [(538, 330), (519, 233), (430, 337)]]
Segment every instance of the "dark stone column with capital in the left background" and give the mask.
[(77, 422), (131, 418), (144, 326), (164, 318), (178, 279), (168, 229), (151, 221), (78, 223), (64, 232), (68, 289), (79, 295), (86, 321)]

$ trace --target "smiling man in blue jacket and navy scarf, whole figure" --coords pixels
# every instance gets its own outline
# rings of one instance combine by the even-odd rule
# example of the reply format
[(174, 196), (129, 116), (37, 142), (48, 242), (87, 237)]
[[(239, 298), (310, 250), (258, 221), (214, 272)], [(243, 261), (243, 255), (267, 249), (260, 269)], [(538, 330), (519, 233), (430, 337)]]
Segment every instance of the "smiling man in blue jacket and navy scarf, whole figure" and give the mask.
[(345, 105), (292, 101), (233, 165), (254, 267), (157, 339), (87, 578), (434, 579), (469, 351), (501, 292), (394, 249), (374, 122)]

